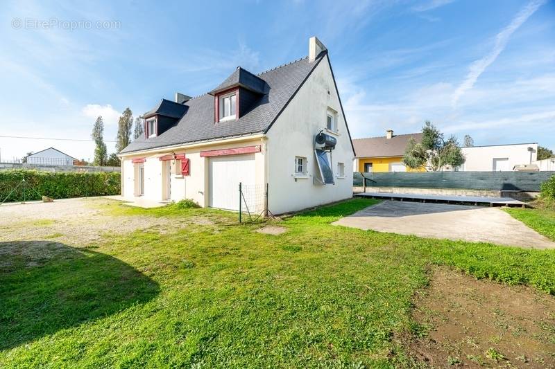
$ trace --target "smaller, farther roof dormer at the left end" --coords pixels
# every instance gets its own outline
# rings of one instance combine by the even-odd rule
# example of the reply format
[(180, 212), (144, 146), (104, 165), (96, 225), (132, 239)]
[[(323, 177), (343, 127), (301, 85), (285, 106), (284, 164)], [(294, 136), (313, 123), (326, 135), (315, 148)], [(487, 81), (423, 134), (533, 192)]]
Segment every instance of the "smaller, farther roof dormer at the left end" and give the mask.
[(182, 103), (162, 99), (157, 107), (143, 115), (145, 138), (153, 138), (166, 132), (178, 123), (188, 108)]

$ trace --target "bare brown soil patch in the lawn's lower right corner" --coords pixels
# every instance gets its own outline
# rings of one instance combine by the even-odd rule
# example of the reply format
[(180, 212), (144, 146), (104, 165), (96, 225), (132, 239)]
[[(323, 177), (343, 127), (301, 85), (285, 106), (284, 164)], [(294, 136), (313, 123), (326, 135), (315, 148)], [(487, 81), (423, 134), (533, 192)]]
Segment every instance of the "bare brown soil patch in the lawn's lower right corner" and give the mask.
[(554, 296), (434, 268), (414, 303), (429, 333), (409, 347), (433, 367), (555, 368)]

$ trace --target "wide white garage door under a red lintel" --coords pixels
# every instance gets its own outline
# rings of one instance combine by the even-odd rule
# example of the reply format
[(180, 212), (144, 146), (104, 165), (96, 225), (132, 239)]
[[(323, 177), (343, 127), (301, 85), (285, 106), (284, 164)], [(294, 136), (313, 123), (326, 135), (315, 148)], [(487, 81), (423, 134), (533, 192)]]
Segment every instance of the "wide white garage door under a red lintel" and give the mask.
[(210, 207), (239, 210), (239, 182), (255, 184), (255, 154), (210, 159)]

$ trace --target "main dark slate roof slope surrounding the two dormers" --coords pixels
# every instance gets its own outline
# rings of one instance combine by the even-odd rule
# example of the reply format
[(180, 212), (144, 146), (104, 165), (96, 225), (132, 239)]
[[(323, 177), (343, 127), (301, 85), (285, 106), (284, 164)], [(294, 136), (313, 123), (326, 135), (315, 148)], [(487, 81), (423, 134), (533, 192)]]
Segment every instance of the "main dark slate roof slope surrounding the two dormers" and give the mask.
[(260, 73), (264, 80), (264, 95), (244, 116), (237, 120), (214, 123), (214, 96), (205, 94), (185, 102), (188, 107), (177, 125), (169, 128), (160, 136), (144, 138), (141, 136), (130, 143), (121, 154), (157, 147), (210, 141), (217, 138), (241, 136), (266, 132), (278, 117), (290, 98), (306, 80), (314, 67), (325, 57), (318, 55), (314, 62), (308, 58), (291, 62), (278, 68)]

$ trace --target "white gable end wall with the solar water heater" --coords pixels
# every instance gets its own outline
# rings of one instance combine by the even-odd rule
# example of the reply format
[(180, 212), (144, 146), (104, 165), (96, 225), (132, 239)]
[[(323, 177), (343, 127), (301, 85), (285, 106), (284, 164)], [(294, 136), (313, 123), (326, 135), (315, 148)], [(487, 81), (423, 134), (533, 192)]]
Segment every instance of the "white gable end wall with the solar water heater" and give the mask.
[[(314, 183), (314, 176), (319, 178), (319, 174), (313, 140), (326, 127), (328, 107), (338, 112), (339, 135), (335, 136), (337, 145), (332, 152), (331, 165), (336, 177), (337, 163), (344, 163), (345, 177), (335, 178), (334, 185), (323, 186)], [(355, 156), (327, 55), (289, 102), (267, 136), (268, 208), (272, 213), (287, 213), (352, 197)], [(295, 156), (307, 158), (307, 178), (294, 177)]]

